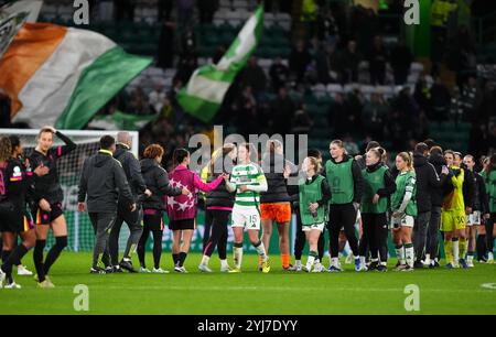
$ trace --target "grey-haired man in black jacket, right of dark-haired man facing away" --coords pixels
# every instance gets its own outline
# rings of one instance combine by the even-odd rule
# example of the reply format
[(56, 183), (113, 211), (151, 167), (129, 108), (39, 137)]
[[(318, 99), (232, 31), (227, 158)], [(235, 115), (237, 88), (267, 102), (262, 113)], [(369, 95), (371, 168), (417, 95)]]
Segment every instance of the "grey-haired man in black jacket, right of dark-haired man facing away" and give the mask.
[[(119, 203), (117, 207), (116, 224), (114, 224), (110, 232), (108, 249), (110, 252), (114, 271), (121, 272), (121, 269), (125, 269), (130, 273), (136, 273), (137, 271), (132, 267), (131, 256), (136, 251), (141, 235), (143, 233), (143, 226), (141, 224), (141, 220), (143, 219), (143, 210), (140, 202), (142, 198), (149, 197), (151, 192), (144, 184), (140, 162), (130, 152), (131, 144), (132, 138), (129, 132), (119, 132), (117, 134), (117, 146), (114, 157), (122, 165), (129, 187), (131, 187), (131, 193), (138, 204), (137, 208), (133, 211), (130, 211), (126, 200)], [(123, 221), (128, 225), (130, 235), (126, 244), (123, 258), (119, 262), (119, 233)]]

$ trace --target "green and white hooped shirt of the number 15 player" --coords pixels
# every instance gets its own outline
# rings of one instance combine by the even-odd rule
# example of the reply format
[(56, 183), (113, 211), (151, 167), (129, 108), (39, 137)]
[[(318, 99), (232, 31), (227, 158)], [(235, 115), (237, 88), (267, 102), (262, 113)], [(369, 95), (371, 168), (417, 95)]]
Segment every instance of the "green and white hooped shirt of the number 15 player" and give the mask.
[[(260, 192), (267, 189), (266, 175), (259, 165), (255, 163), (236, 165), (230, 175), (230, 183), (236, 185), (236, 205), (259, 207)], [(248, 189), (241, 193), (239, 191), (241, 185), (246, 185)]]

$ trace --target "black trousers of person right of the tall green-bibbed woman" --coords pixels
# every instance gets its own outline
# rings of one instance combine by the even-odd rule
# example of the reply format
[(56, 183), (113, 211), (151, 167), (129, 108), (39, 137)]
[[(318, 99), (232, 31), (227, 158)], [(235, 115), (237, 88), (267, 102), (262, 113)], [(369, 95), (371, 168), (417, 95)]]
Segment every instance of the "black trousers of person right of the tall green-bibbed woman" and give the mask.
[(365, 256), (368, 247), (373, 259), (380, 257), (380, 261), (386, 262), (388, 260), (388, 219), (386, 214), (362, 214), (362, 240), (366, 246), (359, 247), (360, 256)]

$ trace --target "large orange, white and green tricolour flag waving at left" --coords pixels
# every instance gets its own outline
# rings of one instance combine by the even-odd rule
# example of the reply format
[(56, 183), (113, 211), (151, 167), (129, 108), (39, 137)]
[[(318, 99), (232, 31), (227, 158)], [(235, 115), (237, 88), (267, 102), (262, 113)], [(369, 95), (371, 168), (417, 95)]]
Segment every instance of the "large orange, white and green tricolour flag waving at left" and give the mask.
[(151, 62), (91, 31), (26, 23), (0, 58), (0, 88), (13, 121), (80, 129)]

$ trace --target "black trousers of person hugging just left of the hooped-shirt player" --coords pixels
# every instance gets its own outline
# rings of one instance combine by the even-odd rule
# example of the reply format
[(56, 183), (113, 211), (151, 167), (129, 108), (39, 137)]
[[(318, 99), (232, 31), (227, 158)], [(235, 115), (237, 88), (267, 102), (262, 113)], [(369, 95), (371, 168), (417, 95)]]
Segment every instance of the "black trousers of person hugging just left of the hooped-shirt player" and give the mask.
[[(203, 254), (211, 257), (217, 247), (218, 258), (226, 260), (227, 258), (227, 226), (229, 222), (229, 210), (209, 209), (205, 216), (205, 236), (208, 238), (204, 241)], [(208, 229), (208, 231), (207, 231)]]

